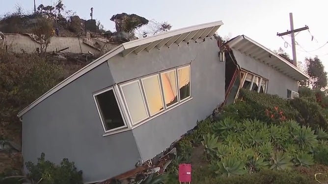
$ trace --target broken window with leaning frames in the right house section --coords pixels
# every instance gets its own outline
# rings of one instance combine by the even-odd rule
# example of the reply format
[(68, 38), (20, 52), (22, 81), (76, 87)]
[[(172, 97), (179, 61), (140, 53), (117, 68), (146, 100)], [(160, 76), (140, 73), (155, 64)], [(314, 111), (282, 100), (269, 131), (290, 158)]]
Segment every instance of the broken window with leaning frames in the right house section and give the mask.
[(267, 92), (267, 79), (244, 70), (241, 71), (241, 74), (243, 76), (242, 88), (260, 93)]

